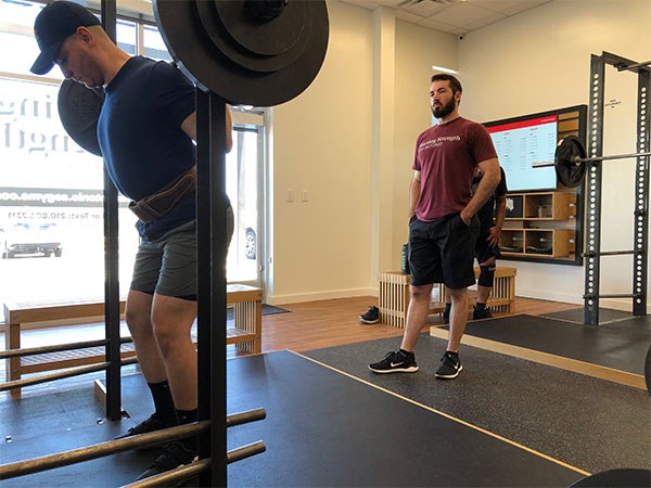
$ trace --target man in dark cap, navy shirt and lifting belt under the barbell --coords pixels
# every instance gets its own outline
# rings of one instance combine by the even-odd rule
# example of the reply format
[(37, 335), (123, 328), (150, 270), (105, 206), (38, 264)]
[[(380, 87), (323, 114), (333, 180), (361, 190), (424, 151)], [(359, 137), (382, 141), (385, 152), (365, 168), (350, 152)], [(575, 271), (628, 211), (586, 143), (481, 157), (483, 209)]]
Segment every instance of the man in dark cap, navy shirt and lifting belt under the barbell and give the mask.
[[(85, 8), (49, 3), (34, 26), (40, 54), (31, 72), (54, 64), (66, 78), (102, 87), (98, 140), (116, 188), (131, 198), (141, 244), (126, 320), (155, 412), (126, 437), (196, 421), (196, 208), (194, 87), (174, 66), (122, 51)], [(232, 145), (227, 108), (227, 151)], [(232, 209), (227, 221), (232, 235)], [(168, 445), (139, 479), (196, 459), (196, 439)]]

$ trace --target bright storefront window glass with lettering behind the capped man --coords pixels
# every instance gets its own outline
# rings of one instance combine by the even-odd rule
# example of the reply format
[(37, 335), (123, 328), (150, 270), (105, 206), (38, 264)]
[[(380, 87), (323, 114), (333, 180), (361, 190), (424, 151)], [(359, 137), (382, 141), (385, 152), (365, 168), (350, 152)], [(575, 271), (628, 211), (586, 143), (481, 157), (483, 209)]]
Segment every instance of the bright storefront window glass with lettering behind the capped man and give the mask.
[[(103, 162), (64, 130), (58, 67), (29, 73), (38, 55), (40, 3), (0, 0), (0, 322), (4, 303), (82, 303), (104, 297)], [(118, 46), (170, 61), (154, 26), (119, 21)], [(11, 49), (9, 49), (11, 47)], [(139, 48), (140, 47), (140, 48)], [(259, 283), (261, 129), (235, 127), (227, 193), (235, 213), (229, 281)], [(136, 216), (119, 197), (119, 282), (126, 297), (139, 244)]]

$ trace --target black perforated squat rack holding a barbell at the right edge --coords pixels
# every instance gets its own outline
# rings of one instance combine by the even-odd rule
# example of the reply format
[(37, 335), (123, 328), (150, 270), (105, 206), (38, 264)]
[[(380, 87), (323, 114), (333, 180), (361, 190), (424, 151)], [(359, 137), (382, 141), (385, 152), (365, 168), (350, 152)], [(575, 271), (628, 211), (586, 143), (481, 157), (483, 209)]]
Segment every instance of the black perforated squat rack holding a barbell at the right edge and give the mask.
[[(631, 60), (602, 52), (590, 59), (590, 104), (588, 112), (588, 146), (590, 158), (601, 158), (603, 153), (603, 107), (605, 91), (605, 65), (618, 72), (628, 70), (638, 75), (636, 179), (634, 210), (634, 248), (631, 251), (601, 251), (601, 160), (592, 160), (586, 176), (586, 257), (584, 323), (599, 324), (600, 298), (631, 298), (633, 314), (647, 314), (647, 268), (649, 255), (649, 102), (651, 101), (651, 61), (637, 63)], [(599, 277), (601, 256), (633, 255), (633, 291), (629, 294), (600, 294)]]

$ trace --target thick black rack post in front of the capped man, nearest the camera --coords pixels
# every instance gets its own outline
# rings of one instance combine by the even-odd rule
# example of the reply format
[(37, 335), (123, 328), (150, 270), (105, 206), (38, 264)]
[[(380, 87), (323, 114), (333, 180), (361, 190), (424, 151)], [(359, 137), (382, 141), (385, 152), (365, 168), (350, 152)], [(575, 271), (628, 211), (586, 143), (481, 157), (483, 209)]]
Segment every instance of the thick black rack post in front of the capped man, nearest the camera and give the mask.
[(227, 485), (226, 462), (226, 104), (196, 89), (196, 239), (200, 486)]

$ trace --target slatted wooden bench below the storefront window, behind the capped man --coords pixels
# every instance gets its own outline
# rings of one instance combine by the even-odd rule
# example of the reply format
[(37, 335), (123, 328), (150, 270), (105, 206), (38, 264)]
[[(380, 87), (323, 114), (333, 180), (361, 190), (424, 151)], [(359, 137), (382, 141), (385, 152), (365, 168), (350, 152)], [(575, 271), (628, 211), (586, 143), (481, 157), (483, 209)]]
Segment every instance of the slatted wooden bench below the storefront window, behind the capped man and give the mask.
[[(227, 285), (227, 306), (233, 306), (233, 326), (226, 330), (226, 344), (234, 344), (238, 349), (259, 354), (263, 343), (263, 290), (254, 286)], [(125, 301), (119, 304), (120, 314), (125, 311)], [(24, 324), (51, 320), (69, 320), (90, 317), (103, 317), (104, 304), (67, 303), (37, 305), (29, 303), (8, 303), (4, 305), (7, 325), (4, 346), (7, 349), (21, 348), (21, 329)], [(193, 337), (195, 339), (195, 337)], [(120, 356), (136, 356), (132, 343), (120, 346)], [(88, 347), (59, 352), (47, 352), (22, 358), (9, 358), (7, 361), (8, 381), (17, 381), (24, 374), (60, 370), (104, 361), (104, 347)], [(21, 388), (11, 391), (12, 398), (21, 397)]]

